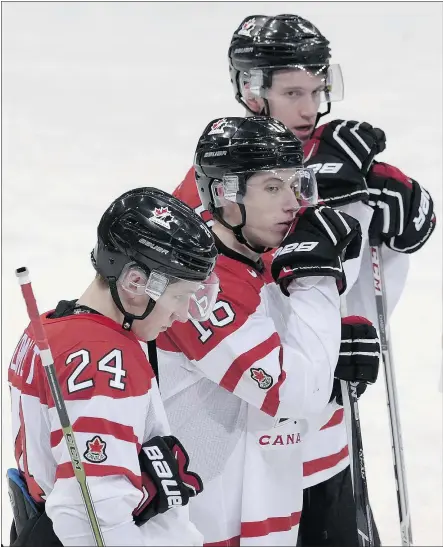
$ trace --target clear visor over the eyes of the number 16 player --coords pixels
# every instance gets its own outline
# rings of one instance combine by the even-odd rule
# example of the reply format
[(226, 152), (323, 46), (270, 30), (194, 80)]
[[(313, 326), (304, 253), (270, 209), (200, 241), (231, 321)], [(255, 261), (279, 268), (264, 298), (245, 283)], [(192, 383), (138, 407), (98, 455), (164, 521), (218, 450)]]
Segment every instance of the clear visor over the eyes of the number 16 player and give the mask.
[[(248, 175), (246, 188), (242, 188), (241, 181)], [(278, 202), (279, 206), (311, 207), (318, 203), (317, 180), (309, 167), (230, 173), (212, 188), (216, 207), (225, 207), (227, 202), (250, 204), (256, 199), (266, 200), (269, 206)]]

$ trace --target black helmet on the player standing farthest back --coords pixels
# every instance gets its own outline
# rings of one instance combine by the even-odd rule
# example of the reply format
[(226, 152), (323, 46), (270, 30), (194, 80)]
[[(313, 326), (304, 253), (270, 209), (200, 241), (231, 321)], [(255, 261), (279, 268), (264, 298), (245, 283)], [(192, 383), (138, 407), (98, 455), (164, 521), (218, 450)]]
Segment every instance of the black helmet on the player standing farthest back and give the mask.
[[(328, 112), (330, 101), (341, 100), (343, 96), (340, 67), (329, 64), (329, 41), (310, 21), (298, 15), (246, 17), (234, 32), (228, 57), (235, 97), (248, 110), (242, 98), (242, 78), (252, 90), (266, 90), (272, 85), (275, 70), (291, 66), (324, 75)], [(331, 94), (332, 84), (334, 94)], [(265, 104), (264, 114), (269, 115), (266, 99)]]

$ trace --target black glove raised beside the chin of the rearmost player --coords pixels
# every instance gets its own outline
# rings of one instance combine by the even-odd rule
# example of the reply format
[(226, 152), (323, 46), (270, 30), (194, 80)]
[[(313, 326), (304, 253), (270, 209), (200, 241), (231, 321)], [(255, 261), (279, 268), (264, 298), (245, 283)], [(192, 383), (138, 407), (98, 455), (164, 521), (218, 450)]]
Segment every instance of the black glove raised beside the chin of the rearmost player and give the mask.
[(384, 132), (366, 122), (334, 120), (316, 129), (305, 167), (315, 171), (322, 201), (330, 207), (367, 201), (366, 174), (385, 148)]

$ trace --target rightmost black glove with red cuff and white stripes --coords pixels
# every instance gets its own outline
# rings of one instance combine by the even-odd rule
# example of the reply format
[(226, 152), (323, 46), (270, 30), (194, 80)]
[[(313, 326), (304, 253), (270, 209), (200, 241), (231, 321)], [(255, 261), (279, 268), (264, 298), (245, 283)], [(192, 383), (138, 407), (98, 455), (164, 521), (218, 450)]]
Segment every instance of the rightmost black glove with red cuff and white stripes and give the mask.
[(369, 227), (371, 245), (386, 243), (400, 253), (418, 251), (435, 228), (434, 203), (429, 193), (386, 163), (374, 163), (367, 183), (369, 205), (374, 209)]

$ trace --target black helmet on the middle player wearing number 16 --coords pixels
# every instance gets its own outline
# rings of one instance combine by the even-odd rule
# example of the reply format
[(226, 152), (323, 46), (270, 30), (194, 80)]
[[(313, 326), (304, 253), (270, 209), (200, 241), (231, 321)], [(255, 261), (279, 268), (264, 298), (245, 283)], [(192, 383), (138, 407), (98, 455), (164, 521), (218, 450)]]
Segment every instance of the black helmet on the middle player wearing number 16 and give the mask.
[[(292, 180), (303, 199), (317, 201), (315, 175), (303, 168), (302, 143), (285, 125), (268, 116), (226, 117), (210, 122), (198, 141), (194, 169), (202, 205), (231, 229), (240, 243), (256, 252), (263, 250), (252, 248), (242, 234), (246, 224), (243, 198), (250, 176), (257, 171), (292, 169)], [(239, 204), (240, 225), (225, 222), (220, 196)]]

